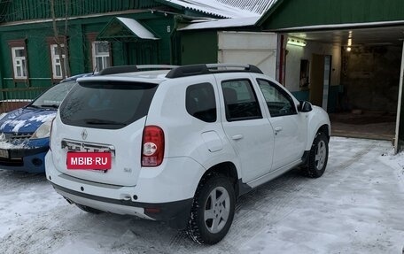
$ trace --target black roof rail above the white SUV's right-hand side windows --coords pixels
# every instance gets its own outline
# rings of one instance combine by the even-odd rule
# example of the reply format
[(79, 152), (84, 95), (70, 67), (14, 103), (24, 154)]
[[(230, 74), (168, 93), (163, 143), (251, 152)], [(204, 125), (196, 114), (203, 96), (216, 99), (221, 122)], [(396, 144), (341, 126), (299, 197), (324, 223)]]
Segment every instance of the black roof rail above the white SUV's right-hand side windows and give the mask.
[(211, 74), (211, 73), (260, 73), (262, 71), (255, 65), (239, 64), (207, 64), (207, 65), (184, 65), (172, 69), (166, 78), (175, 79), (188, 76)]

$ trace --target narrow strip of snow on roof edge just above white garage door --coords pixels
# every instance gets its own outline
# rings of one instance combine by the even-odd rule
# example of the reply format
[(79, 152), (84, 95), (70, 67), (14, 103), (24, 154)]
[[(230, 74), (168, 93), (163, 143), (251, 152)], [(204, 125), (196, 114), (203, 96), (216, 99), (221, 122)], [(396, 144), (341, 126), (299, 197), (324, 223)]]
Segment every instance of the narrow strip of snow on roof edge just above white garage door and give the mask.
[(201, 21), (192, 23), (186, 27), (178, 30), (196, 30), (206, 28), (221, 28), (221, 27), (248, 27), (253, 26), (260, 16), (250, 18), (235, 18), (235, 19), (208, 19), (207, 21)]

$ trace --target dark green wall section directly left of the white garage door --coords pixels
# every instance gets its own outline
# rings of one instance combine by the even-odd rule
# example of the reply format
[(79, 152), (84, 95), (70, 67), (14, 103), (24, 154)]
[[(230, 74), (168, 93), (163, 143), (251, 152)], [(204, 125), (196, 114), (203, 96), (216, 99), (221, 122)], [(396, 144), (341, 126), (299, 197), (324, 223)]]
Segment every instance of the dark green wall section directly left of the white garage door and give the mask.
[(214, 30), (181, 33), (181, 64), (217, 63), (217, 32)]

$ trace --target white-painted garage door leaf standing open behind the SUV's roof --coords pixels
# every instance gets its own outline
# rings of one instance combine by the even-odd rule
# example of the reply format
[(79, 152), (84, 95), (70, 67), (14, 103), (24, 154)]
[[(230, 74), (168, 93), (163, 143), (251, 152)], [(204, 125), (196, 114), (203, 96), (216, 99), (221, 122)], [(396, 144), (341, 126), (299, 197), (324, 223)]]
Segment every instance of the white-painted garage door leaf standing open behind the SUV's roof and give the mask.
[(218, 32), (218, 62), (257, 65), (275, 79), (277, 35), (274, 33)]

